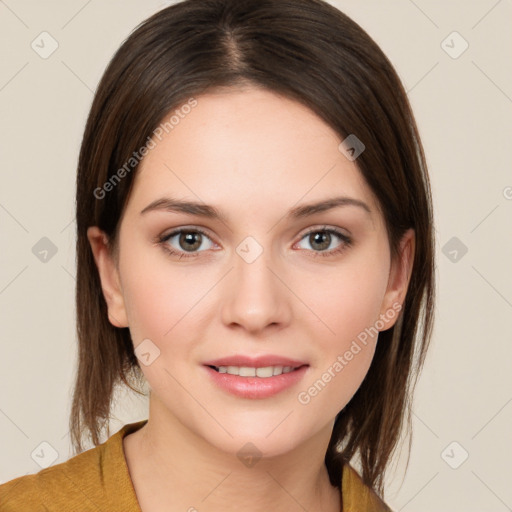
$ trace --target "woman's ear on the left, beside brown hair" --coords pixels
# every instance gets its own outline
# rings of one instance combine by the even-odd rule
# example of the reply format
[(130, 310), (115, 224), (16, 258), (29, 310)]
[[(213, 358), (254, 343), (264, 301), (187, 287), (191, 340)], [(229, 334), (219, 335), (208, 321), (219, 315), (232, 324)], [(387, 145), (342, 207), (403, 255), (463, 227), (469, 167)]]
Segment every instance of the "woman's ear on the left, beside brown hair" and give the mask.
[(108, 306), (108, 319), (115, 327), (128, 327), (121, 281), (117, 264), (108, 245), (108, 236), (97, 226), (91, 226), (87, 229), (87, 238), (98, 267), (101, 289)]

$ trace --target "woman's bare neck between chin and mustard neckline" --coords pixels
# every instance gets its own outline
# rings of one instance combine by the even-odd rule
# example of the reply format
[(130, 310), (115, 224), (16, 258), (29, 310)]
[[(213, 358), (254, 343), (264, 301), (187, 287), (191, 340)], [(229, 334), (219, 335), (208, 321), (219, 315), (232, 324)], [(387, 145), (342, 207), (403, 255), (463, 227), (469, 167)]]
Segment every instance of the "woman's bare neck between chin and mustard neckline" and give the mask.
[[(124, 440), (143, 512), (158, 510), (340, 511), (324, 455), (331, 430), (274, 457), (230, 454), (186, 428), (150, 396), (147, 424)], [(172, 508), (170, 508), (172, 507)]]

